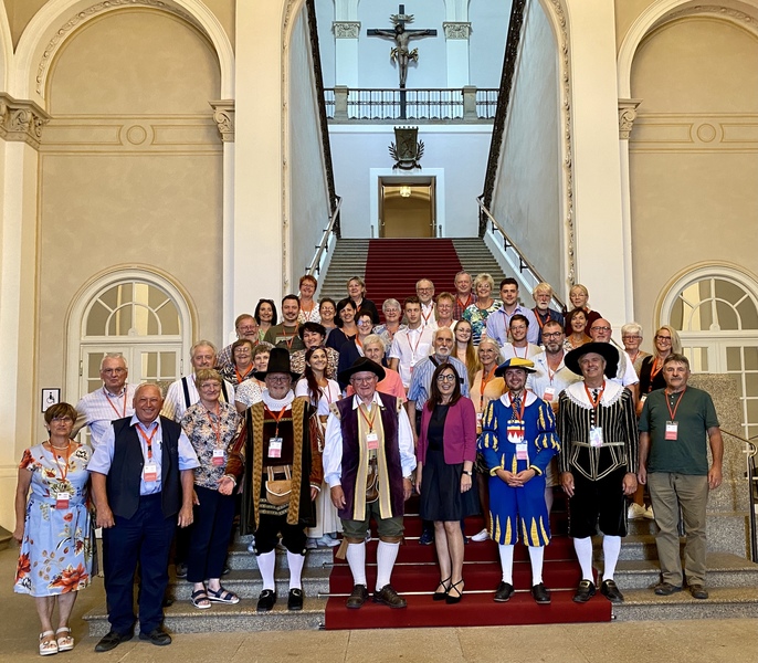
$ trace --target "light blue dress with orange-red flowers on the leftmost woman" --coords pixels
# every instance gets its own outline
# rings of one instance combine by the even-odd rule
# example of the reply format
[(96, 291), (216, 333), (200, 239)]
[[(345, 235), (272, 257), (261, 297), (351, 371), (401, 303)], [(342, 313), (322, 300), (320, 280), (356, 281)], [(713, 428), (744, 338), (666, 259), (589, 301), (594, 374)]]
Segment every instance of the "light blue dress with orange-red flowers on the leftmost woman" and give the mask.
[[(42, 444), (23, 452), (19, 469), (33, 474), (15, 592), (50, 597), (90, 585), (95, 551), (87, 508), (91, 453), (88, 446), (80, 446), (69, 456), (65, 470), (64, 461), (59, 465), (55, 455)], [(59, 493), (69, 493), (67, 508), (56, 508)]]

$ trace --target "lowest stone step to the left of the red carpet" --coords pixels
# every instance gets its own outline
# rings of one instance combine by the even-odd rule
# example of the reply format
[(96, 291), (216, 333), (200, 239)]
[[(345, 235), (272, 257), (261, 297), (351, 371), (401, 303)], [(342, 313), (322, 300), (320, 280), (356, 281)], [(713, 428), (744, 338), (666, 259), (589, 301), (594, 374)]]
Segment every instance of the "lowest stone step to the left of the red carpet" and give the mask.
[[(287, 593), (280, 593), (271, 612), (255, 611), (255, 599), (243, 599), (236, 606), (213, 604), (198, 610), (188, 601), (178, 601), (165, 609), (164, 625), (171, 633), (212, 633), (234, 631), (299, 631), (316, 630), (324, 624), (326, 599), (305, 596), (303, 610), (287, 610)], [(90, 635), (101, 638), (110, 627), (105, 603), (84, 615)], [(251, 659), (252, 660), (252, 659)]]

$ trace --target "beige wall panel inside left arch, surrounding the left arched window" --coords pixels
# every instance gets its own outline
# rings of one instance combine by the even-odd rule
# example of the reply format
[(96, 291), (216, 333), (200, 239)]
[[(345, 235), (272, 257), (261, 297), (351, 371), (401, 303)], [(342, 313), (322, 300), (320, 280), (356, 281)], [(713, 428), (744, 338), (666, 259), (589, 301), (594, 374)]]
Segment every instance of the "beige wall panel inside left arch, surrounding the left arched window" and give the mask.
[[(123, 10), (61, 49), (40, 149), (38, 387), (64, 386), (66, 313), (119, 265), (170, 274), (221, 341), (219, 67), (178, 18)], [(63, 393), (75, 401), (75, 394)]]

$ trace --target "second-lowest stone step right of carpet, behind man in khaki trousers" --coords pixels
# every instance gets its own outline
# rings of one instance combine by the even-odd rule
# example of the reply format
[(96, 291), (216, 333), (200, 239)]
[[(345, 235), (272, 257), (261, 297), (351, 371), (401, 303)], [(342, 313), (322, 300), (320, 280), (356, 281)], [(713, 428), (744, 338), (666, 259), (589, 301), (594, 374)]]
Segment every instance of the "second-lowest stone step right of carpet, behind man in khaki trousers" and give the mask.
[[(602, 565), (600, 565), (602, 566)], [(706, 558), (708, 588), (758, 587), (758, 564), (729, 552), (709, 552)], [(651, 589), (659, 583), (661, 567), (657, 560), (620, 560), (615, 567), (615, 581), (624, 592)]]

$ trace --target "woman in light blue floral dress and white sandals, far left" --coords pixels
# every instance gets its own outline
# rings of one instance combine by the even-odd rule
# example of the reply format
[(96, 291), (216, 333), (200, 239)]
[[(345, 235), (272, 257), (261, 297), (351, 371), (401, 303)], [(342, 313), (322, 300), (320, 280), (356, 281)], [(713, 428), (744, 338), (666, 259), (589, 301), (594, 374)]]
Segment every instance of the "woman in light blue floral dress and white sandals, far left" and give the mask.
[(19, 465), (13, 530), (21, 545), (13, 589), (34, 597), (43, 656), (74, 646), (69, 617), (76, 592), (90, 585), (94, 554), (86, 504), (91, 450), (71, 439), (76, 410), (57, 403), (44, 418), (50, 440), (27, 449)]

